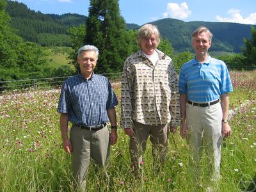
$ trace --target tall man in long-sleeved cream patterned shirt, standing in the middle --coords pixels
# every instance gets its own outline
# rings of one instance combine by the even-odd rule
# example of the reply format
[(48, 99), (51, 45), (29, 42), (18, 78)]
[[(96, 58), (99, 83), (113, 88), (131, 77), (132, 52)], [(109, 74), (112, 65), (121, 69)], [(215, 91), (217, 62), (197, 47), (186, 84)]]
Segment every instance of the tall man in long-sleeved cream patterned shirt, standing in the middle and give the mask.
[(121, 125), (130, 136), (132, 170), (138, 175), (148, 136), (156, 167), (166, 158), (168, 126), (179, 124), (179, 93), (173, 61), (157, 50), (159, 31), (152, 24), (138, 30), (141, 50), (124, 62)]

